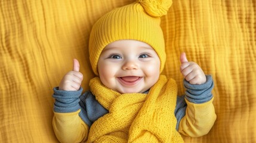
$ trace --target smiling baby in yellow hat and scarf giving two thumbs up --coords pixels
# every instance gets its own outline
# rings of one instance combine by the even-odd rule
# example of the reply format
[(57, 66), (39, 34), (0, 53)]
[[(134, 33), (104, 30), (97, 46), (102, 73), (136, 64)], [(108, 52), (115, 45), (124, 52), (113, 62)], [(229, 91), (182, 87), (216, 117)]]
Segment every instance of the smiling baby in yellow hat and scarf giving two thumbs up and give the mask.
[[(182, 53), (186, 95), (161, 75), (165, 44), (160, 17), (171, 1), (137, 1), (103, 15), (92, 27), (96, 77), (82, 94), (78, 60), (54, 88), (53, 128), (60, 142), (183, 142), (214, 125), (212, 78)], [(180, 132), (180, 133), (178, 133)]]

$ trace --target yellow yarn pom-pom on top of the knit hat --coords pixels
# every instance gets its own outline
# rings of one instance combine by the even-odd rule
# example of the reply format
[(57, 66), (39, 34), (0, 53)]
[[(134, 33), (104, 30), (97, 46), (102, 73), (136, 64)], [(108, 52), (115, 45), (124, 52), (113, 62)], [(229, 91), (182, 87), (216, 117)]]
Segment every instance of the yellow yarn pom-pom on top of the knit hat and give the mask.
[(171, 0), (137, 0), (137, 2), (140, 2), (147, 14), (153, 17), (166, 15), (172, 4)]

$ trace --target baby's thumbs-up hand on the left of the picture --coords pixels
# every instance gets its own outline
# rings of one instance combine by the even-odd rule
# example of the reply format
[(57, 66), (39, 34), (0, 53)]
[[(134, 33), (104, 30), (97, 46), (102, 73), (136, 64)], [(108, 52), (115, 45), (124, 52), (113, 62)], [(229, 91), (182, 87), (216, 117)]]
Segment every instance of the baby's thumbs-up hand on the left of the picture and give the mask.
[(83, 74), (79, 72), (79, 62), (73, 59), (73, 70), (62, 78), (58, 89), (61, 91), (78, 91), (83, 80)]

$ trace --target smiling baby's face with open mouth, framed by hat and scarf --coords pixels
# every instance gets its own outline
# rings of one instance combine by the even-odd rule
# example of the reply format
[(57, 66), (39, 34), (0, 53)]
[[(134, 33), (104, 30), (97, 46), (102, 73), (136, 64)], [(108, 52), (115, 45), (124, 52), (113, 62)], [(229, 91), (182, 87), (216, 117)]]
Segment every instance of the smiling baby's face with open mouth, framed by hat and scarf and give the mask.
[(121, 40), (103, 49), (97, 68), (107, 88), (121, 94), (143, 93), (158, 81), (160, 60), (147, 43)]

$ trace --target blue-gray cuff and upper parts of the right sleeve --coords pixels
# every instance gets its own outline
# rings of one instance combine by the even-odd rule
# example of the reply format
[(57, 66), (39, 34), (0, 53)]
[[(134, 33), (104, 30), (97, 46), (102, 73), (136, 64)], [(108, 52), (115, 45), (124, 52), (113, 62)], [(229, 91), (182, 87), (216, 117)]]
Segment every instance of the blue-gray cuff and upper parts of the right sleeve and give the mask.
[(193, 102), (195, 104), (208, 102), (212, 99), (211, 91), (214, 83), (211, 76), (206, 75), (206, 79), (206, 83), (202, 85), (191, 85), (186, 80), (183, 81), (186, 92), (185, 95), (177, 97), (176, 108), (174, 111), (175, 117), (177, 119), (176, 130), (178, 130), (180, 121), (186, 114), (187, 103), (185, 101), (185, 98), (189, 102)]

